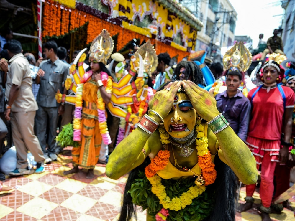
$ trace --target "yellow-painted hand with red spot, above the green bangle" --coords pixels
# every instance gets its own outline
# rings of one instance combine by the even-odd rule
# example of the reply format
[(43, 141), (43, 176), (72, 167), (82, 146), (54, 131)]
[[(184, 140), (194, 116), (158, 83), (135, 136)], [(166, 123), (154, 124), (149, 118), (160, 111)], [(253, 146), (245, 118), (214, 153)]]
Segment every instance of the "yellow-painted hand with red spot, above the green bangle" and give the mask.
[(201, 118), (210, 121), (219, 114), (213, 94), (214, 89), (208, 92), (190, 80), (183, 80), (182, 85), (191, 100), (191, 104)]

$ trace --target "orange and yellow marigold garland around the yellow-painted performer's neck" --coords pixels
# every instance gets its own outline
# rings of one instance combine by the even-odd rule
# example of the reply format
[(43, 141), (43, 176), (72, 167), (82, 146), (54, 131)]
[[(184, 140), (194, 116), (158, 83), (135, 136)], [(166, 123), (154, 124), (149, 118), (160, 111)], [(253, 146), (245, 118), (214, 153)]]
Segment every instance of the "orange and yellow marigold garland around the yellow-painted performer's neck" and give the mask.
[[(184, 209), (187, 205), (192, 203), (194, 198), (198, 197), (206, 190), (207, 185), (214, 183), (216, 179), (216, 171), (210, 151), (208, 150), (208, 138), (204, 136), (203, 131), (204, 126), (201, 125), (201, 121), (198, 121), (196, 123), (196, 149), (199, 155), (198, 163), (206, 182), (204, 186), (196, 185), (190, 187), (189, 190), (181, 194), (181, 196), (170, 199), (165, 192), (165, 186), (161, 184), (161, 177), (156, 174), (157, 171), (164, 169), (168, 164), (170, 157), (170, 152), (168, 150), (160, 150), (157, 156), (151, 159), (151, 163), (145, 167), (145, 175), (152, 184), (152, 192), (159, 198), (160, 204), (162, 204), (165, 209), (175, 211), (181, 210), (181, 208)], [(169, 135), (166, 133), (165, 129), (159, 128), (159, 133), (162, 144), (168, 144)]]

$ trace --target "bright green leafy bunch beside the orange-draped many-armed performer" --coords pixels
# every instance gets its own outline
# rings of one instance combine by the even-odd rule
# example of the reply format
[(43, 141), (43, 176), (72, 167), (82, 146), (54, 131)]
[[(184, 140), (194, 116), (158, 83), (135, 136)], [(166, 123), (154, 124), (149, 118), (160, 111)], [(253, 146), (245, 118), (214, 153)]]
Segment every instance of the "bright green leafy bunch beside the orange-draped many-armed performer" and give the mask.
[(77, 147), (79, 146), (79, 143), (76, 141), (73, 141), (73, 124), (68, 123), (63, 126), (63, 129), (59, 132), (58, 136), (56, 136), (55, 140), (60, 145), (60, 147), (66, 147), (66, 146), (73, 146)]

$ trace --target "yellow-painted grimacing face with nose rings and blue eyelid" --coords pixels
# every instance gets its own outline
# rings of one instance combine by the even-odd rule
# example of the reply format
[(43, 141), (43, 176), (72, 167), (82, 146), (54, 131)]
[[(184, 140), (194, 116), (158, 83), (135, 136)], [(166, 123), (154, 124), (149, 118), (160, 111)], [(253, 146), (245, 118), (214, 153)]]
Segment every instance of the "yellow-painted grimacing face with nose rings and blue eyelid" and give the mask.
[(196, 110), (184, 92), (175, 95), (173, 107), (164, 119), (164, 127), (168, 134), (175, 138), (188, 136), (196, 125)]

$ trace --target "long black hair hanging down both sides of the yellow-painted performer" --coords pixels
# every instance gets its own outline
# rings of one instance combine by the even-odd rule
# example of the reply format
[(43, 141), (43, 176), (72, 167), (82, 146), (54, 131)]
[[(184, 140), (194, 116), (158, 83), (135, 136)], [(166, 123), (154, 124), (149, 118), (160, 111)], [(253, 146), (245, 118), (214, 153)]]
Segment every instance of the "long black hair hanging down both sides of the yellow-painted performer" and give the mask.
[[(138, 171), (144, 171), (145, 167), (150, 164), (150, 158), (135, 169), (133, 169), (126, 182), (124, 190), (123, 204), (119, 221), (130, 221), (132, 217), (136, 218), (136, 206), (132, 203), (132, 197), (128, 191), (132, 182), (138, 178)], [(235, 196), (237, 194), (236, 177), (232, 169), (223, 163), (218, 154), (214, 159), (217, 177), (214, 184), (207, 187), (207, 191), (215, 192), (215, 203), (212, 212), (203, 221), (234, 221), (235, 220)]]

